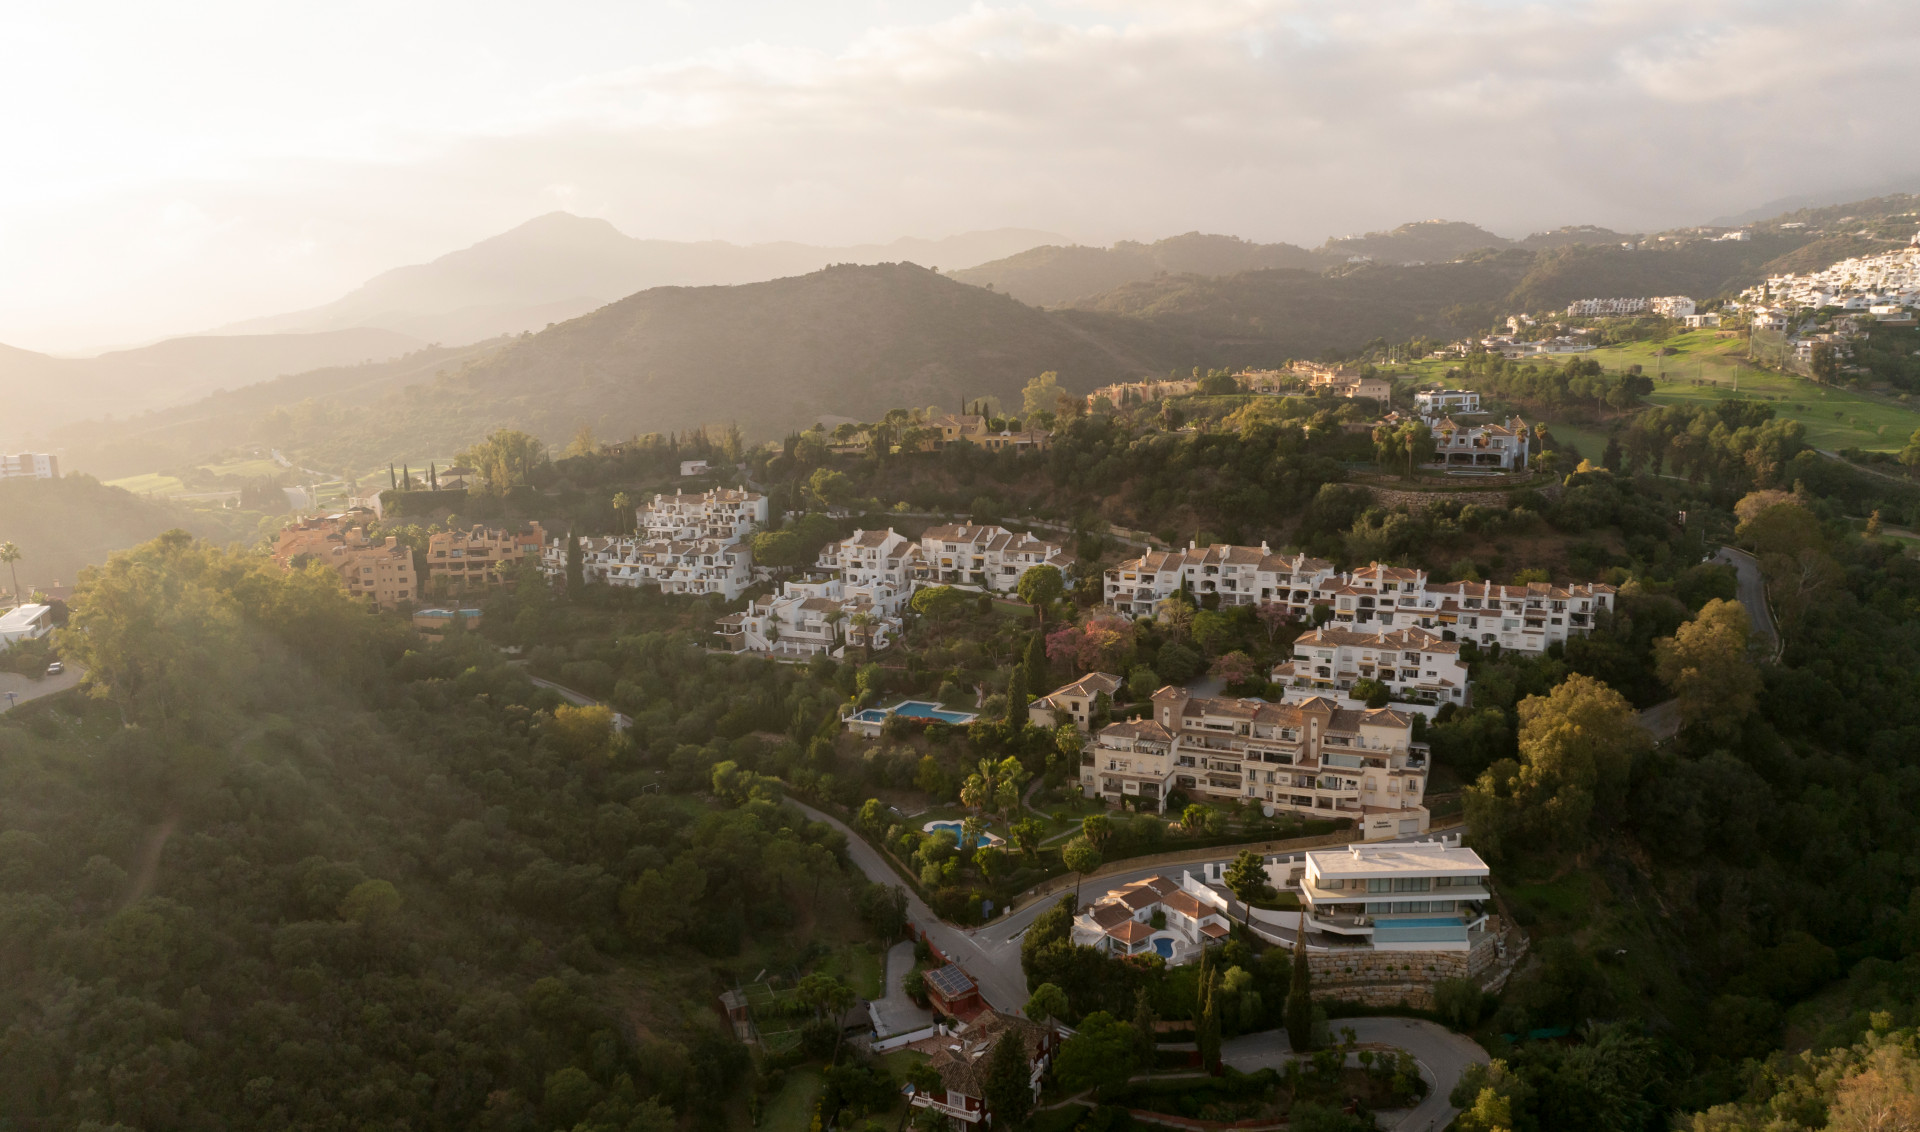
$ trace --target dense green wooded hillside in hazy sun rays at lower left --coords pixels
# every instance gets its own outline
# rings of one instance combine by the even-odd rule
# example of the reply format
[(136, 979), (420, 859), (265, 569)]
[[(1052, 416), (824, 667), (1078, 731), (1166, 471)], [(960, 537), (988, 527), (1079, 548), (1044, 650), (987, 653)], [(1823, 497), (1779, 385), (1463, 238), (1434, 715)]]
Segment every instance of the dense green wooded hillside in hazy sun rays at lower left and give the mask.
[(173, 533), (90, 572), (63, 649), (100, 698), (0, 716), (0, 1124), (745, 1126), (766, 1082), (714, 996), (866, 954), (900, 906), (710, 767), (791, 764), (778, 731), (841, 693), (543, 589), (495, 612), (634, 633), (597, 652), (659, 696), (634, 733), (323, 568)]

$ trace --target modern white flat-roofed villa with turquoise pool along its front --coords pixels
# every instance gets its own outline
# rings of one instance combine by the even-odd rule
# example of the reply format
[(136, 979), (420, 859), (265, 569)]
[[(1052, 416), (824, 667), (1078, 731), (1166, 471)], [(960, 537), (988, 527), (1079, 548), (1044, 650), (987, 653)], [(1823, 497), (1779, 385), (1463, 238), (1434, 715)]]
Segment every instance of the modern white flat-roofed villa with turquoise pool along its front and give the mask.
[(1469, 952), (1486, 927), (1492, 869), (1471, 848), (1444, 840), (1350, 844), (1306, 858), (1300, 906), (1308, 931), (1390, 952)]

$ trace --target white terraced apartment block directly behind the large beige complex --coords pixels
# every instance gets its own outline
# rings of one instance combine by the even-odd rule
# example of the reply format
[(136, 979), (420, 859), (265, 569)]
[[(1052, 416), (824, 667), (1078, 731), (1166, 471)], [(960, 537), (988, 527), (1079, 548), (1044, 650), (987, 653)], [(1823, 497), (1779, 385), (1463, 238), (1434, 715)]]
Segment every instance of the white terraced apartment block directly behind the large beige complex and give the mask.
[[(1290, 704), (1313, 696), (1340, 696), (1342, 706), (1356, 683), (1377, 679), (1407, 710), (1436, 710), (1440, 704), (1469, 702), (1469, 672), (1459, 658), (1459, 643), (1419, 627), (1365, 633), (1344, 625), (1323, 625), (1294, 641), (1292, 660), (1273, 668), (1273, 683), (1283, 685)], [(1425, 714), (1425, 712), (1423, 712)]]

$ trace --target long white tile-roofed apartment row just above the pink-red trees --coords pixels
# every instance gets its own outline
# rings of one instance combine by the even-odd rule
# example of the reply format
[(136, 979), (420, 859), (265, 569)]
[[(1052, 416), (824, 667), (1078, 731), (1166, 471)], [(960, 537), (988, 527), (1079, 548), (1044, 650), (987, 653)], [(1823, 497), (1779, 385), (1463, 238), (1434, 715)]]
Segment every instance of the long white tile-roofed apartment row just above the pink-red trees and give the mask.
[(1185, 551), (1146, 551), (1106, 572), (1106, 608), (1117, 614), (1152, 616), (1181, 583), (1200, 601), (1219, 595), (1219, 604), (1283, 602), (1296, 618), (1311, 612), (1313, 591), (1334, 576), (1332, 562), (1306, 554), (1275, 554), (1265, 543), (1200, 547)]

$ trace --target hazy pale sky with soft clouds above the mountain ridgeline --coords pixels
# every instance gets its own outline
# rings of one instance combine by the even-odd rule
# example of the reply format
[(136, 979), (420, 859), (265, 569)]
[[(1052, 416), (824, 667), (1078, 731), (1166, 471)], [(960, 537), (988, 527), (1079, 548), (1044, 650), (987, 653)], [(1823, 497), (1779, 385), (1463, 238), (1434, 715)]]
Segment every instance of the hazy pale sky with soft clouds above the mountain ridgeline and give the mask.
[(13, 6), (0, 342), (330, 301), (551, 209), (1319, 244), (1920, 182), (1914, 0)]

